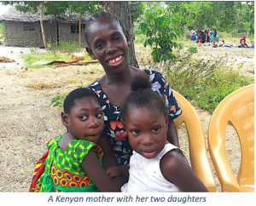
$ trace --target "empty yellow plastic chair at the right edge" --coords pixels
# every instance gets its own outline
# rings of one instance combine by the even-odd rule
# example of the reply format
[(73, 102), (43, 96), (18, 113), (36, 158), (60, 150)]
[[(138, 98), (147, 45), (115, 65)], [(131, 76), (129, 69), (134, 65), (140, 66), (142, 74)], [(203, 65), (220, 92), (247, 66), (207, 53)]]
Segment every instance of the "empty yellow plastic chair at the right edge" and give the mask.
[[(225, 130), (232, 123), (241, 145), (241, 165), (234, 175), (225, 152)], [(254, 85), (229, 94), (212, 114), (208, 147), (222, 192), (254, 192)]]

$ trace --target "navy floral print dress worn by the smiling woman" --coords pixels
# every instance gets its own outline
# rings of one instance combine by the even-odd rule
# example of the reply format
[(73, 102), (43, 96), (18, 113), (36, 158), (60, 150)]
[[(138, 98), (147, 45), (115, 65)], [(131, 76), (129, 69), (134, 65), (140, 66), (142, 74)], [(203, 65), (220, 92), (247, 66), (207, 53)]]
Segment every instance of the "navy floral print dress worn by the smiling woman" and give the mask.
[[(166, 100), (166, 106), (169, 108), (169, 120), (178, 117), (182, 111), (177, 105), (177, 100), (172, 94), (172, 89), (170, 89), (165, 77), (160, 74), (160, 72), (155, 72), (151, 70), (144, 70), (147, 72), (149, 81), (152, 83), (151, 89), (158, 94), (164, 96)], [(113, 104), (108, 100), (106, 94), (101, 88), (100, 83), (96, 80), (87, 86), (88, 89), (92, 89), (96, 94), (98, 94), (102, 111), (104, 112), (105, 127), (102, 132), (102, 137), (108, 137), (110, 146), (112, 147), (113, 154), (119, 165), (129, 165), (130, 157), (132, 155), (132, 148), (129, 144), (127, 133), (124, 126), (120, 122), (120, 106), (113, 106)]]

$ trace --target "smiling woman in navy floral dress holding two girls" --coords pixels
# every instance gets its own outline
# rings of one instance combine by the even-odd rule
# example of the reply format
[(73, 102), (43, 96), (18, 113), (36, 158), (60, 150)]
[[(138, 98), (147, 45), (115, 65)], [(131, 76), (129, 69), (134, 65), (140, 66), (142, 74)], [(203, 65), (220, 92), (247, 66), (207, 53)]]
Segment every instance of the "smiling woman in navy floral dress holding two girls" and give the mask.
[(182, 112), (172, 94), (172, 89), (160, 72), (142, 70), (129, 65), (128, 49), (131, 42), (122, 22), (107, 12), (93, 14), (86, 24), (84, 36), (88, 54), (92, 59), (97, 59), (105, 71), (100, 79), (87, 87), (98, 94), (106, 117), (105, 128), (98, 140), (105, 154), (103, 168), (129, 165), (132, 148), (127, 132), (120, 122), (120, 108), (126, 96), (131, 93), (131, 80), (140, 75), (149, 79), (152, 84), (151, 89), (155, 93), (165, 96), (166, 104), (170, 106), (167, 139), (179, 146), (173, 119)]

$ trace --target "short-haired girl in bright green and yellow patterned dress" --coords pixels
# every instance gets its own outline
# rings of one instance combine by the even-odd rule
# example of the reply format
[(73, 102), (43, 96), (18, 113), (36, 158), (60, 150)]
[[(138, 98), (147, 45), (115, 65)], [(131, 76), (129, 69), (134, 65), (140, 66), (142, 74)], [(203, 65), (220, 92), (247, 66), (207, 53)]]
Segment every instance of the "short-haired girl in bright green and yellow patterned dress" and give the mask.
[(44, 173), (30, 192), (119, 192), (127, 178), (106, 174), (102, 148), (96, 144), (104, 127), (98, 96), (90, 89), (75, 89), (63, 107), (61, 121), (67, 133), (49, 142)]

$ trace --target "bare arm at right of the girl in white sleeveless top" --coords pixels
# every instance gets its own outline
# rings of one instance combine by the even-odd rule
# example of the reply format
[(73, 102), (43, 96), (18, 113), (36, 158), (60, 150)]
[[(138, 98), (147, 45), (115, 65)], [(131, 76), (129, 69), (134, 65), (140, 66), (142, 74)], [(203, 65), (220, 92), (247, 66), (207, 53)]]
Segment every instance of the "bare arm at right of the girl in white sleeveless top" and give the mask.
[(167, 152), (162, 157), (160, 169), (166, 180), (172, 182), (182, 192), (208, 192), (207, 187), (176, 150)]

